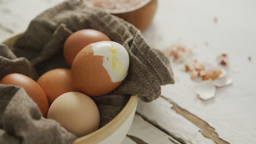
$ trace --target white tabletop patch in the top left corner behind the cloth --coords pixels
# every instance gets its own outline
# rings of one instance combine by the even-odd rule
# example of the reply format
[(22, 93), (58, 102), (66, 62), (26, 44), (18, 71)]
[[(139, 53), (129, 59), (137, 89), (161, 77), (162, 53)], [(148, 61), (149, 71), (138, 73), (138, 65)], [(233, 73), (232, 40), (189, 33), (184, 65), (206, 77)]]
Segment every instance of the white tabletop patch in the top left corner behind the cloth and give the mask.
[(30, 21), (63, 0), (0, 0), (0, 41), (26, 30)]

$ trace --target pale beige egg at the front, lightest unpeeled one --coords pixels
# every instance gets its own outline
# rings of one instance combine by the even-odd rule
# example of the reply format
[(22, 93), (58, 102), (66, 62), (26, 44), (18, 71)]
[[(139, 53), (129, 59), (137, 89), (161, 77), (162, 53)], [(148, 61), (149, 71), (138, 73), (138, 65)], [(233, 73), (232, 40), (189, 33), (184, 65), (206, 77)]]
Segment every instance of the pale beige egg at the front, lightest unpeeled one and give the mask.
[(51, 104), (47, 118), (55, 119), (79, 137), (92, 133), (100, 125), (97, 105), (90, 97), (79, 92), (68, 92), (58, 97)]

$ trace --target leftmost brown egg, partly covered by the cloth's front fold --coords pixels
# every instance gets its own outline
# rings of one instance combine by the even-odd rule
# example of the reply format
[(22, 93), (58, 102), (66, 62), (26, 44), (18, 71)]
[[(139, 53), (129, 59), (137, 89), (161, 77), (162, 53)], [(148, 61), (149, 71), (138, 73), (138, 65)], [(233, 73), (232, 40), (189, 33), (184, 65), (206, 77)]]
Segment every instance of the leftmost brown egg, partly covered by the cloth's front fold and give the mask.
[(4, 76), (0, 80), (0, 83), (4, 85), (15, 85), (24, 87), (27, 94), (39, 107), (40, 111), (42, 112), (42, 115), (46, 117), (49, 109), (48, 100), (43, 89), (38, 85), (36, 81), (32, 80), (30, 77), (27, 77), (25, 75), (14, 73)]

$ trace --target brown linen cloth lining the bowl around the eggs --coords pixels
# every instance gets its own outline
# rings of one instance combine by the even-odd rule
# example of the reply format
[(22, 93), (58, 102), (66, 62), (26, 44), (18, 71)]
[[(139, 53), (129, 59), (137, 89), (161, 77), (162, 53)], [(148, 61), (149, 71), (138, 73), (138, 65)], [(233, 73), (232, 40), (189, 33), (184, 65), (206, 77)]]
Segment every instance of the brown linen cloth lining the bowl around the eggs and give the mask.
[[(130, 57), (124, 82), (107, 95), (92, 97), (100, 110), (100, 127), (118, 115), (130, 95), (150, 102), (160, 96), (161, 85), (174, 83), (170, 62), (148, 46), (138, 29), (78, 0), (65, 1), (32, 20), (14, 45), (14, 53), (0, 46), (0, 79), (21, 73), (37, 80), (48, 70), (69, 68), (63, 44), (73, 32), (85, 28), (105, 33), (122, 44)], [(76, 138), (59, 123), (43, 118), (23, 88), (0, 84), (0, 143), (70, 143)]]

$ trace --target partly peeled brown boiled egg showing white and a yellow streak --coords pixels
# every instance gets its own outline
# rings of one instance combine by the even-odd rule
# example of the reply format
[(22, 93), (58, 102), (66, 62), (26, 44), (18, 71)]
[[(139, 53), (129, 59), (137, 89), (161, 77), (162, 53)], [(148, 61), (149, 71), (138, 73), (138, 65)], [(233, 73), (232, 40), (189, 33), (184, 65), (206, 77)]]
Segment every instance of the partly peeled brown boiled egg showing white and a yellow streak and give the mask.
[(74, 58), (72, 83), (87, 95), (105, 95), (123, 82), (128, 69), (126, 49), (114, 41), (101, 41), (86, 46)]

